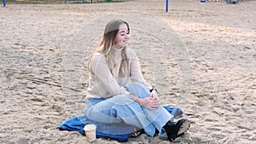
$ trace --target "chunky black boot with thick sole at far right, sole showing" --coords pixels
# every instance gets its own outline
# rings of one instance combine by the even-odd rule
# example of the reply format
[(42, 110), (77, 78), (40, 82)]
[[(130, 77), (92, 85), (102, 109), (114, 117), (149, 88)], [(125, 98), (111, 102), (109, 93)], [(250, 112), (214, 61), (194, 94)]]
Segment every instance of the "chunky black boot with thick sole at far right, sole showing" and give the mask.
[(177, 137), (184, 135), (184, 132), (189, 130), (189, 126), (189, 120), (183, 118), (178, 120), (177, 123), (169, 121), (163, 128), (166, 130), (168, 140), (175, 141)]

